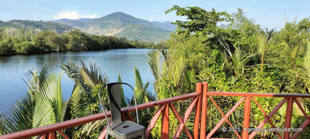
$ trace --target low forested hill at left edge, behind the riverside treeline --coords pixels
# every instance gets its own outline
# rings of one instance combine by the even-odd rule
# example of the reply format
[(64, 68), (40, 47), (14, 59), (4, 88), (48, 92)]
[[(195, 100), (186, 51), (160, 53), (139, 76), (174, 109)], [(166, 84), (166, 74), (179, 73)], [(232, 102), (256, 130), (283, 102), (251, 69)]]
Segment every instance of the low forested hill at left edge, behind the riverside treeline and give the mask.
[(25, 30), (55, 30), (60, 34), (67, 33), (74, 29), (73, 27), (59, 23), (30, 20), (11, 20), (7, 22), (0, 21), (0, 27), (14, 27), (17, 29), (23, 28)]

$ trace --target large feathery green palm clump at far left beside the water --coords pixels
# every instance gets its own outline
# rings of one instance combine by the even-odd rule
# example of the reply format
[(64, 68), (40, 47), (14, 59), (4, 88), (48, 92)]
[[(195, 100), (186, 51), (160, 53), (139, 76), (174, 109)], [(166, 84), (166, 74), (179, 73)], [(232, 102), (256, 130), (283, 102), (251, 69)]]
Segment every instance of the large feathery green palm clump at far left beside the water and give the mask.
[(82, 116), (82, 87), (76, 84), (71, 97), (64, 101), (60, 83), (61, 74), (57, 75), (48, 71), (49, 68), (46, 65), (41, 72), (29, 71), (27, 80), (30, 81), (29, 84), (33, 88), (29, 88), (29, 92), (12, 107), (11, 118), (4, 118), (5, 124), (2, 128), (6, 133), (54, 124)]

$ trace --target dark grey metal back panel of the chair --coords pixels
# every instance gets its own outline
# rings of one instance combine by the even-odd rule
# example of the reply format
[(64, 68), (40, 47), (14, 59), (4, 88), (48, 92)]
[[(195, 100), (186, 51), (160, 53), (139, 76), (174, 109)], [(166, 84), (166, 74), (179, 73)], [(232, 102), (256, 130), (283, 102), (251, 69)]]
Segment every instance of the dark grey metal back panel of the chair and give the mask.
[(111, 83), (107, 85), (108, 97), (110, 101), (111, 118), (113, 124), (122, 122), (121, 120), (121, 84)]

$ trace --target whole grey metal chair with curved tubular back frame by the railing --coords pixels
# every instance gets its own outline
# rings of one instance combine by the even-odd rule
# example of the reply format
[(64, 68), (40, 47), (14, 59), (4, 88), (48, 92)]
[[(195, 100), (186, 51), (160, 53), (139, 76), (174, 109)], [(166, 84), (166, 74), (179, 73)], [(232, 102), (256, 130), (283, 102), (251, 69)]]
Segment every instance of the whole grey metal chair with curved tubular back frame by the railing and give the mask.
[[(109, 136), (115, 137), (117, 139), (130, 139), (134, 137), (141, 137), (142, 139), (145, 139), (145, 132), (144, 132), (145, 127), (139, 124), (138, 107), (135, 97), (134, 100), (137, 114), (137, 123), (134, 123), (132, 121), (121, 120), (121, 84), (129, 86), (134, 92), (135, 96), (134, 89), (129, 84), (124, 82), (108, 83), (101, 86), (99, 90), (99, 100), (103, 108), (105, 119), (107, 120), (109, 126), (107, 128), (105, 139), (108, 139)], [(107, 86), (108, 88), (108, 97), (111, 109), (111, 118), (113, 123), (112, 125), (110, 125), (110, 122), (108, 121), (108, 117), (100, 97), (100, 92), (104, 86)]]

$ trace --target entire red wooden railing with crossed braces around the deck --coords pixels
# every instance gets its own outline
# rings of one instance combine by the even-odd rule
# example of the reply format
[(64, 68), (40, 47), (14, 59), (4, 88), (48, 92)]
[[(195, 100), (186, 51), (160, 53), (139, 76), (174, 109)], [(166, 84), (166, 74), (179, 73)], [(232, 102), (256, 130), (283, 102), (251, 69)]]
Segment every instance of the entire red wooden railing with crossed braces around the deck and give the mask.
[[(212, 98), (214, 95), (219, 96), (241, 96), (241, 99), (227, 112), (227, 114), (224, 114), (220, 107), (215, 103), (215, 100)], [(267, 115), (266, 112), (263, 110), (263, 108), (260, 106), (260, 104), (256, 101), (255, 97), (279, 97), (283, 98), (283, 100)], [(299, 98), (310, 98), (310, 95), (302, 95), (302, 94), (267, 94), (267, 93), (237, 93), (237, 92), (212, 92), (208, 91), (208, 83), (197, 83), (196, 92), (186, 94), (186, 95), (180, 95), (172, 98), (162, 99), (158, 101), (143, 103), (138, 105), (138, 110), (146, 109), (149, 107), (158, 107), (157, 111), (155, 112), (152, 120), (150, 121), (148, 127), (146, 128), (146, 137), (149, 137), (152, 129), (154, 128), (157, 120), (160, 116), (162, 116), (162, 128), (161, 128), (161, 138), (166, 139), (169, 138), (169, 109), (171, 112), (175, 115), (176, 119), (179, 121), (179, 126), (177, 130), (175, 131), (173, 139), (179, 138), (182, 131), (186, 133), (188, 138), (190, 139), (209, 139), (212, 137), (212, 135), (219, 129), (219, 127), (224, 123), (227, 122), (230, 127), (233, 127), (233, 125), (229, 122), (228, 117), (232, 114), (232, 112), (244, 101), (244, 120), (243, 120), (243, 128), (249, 128), (250, 123), (250, 107), (251, 102), (254, 101), (254, 103), (259, 107), (259, 109), (262, 111), (263, 115), (265, 116), (265, 119), (257, 126), (257, 128), (262, 128), (267, 122), (272, 126), (272, 128), (275, 128), (275, 126), (272, 124), (272, 121), (270, 118), (279, 110), (279, 108), (287, 102), (286, 106), (286, 117), (285, 117), (285, 128), (290, 128), (291, 125), (291, 118), (292, 118), (292, 109), (293, 109), (293, 103), (295, 102), (297, 106), (300, 108), (301, 112), (305, 116), (305, 122), (299, 127), (299, 128), (306, 128), (308, 124), (310, 123), (310, 118), (307, 115), (307, 113), (304, 111), (302, 105), (299, 103)], [(185, 99), (192, 99), (191, 103), (188, 105), (188, 108), (186, 112), (184, 113), (184, 116), (181, 118), (176, 111), (173, 102), (185, 100)], [(215, 105), (215, 107), (219, 110), (223, 118), (219, 121), (219, 123), (207, 134), (206, 133), (206, 121), (207, 121), (207, 102), (208, 99)], [(211, 103), (210, 103), (211, 104)], [(195, 107), (195, 109), (194, 109)], [(193, 123), (193, 134), (191, 134), (188, 130), (188, 128), (185, 126), (188, 117), (192, 113), (194, 109), (194, 123)], [(125, 107), (122, 108), (122, 120), (125, 120), (127, 118), (128, 120), (134, 121), (134, 119), (130, 116), (129, 112), (134, 112), (135, 107)], [(111, 113), (107, 112), (107, 116), (110, 117)], [(78, 119), (68, 120), (56, 124), (51, 124), (39, 128), (33, 128), (28, 129), (20, 132), (15, 132), (11, 134), (6, 134), (0, 136), (0, 139), (20, 139), (20, 138), (29, 138), (29, 137), (37, 137), (38, 139), (55, 139), (57, 137), (57, 133), (60, 134), (60, 136), (64, 137), (65, 139), (69, 139), (62, 130), (66, 128), (71, 128), (75, 126), (79, 126), (82, 124), (94, 122), (97, 120), (104, 119), (104, 115), (99, 113), (91, 116), (86, 116)], [(102, 133), (100, 134), (100, 139), (103, 139), (105, 137), (106, 133), (106, 127), (103, 129)], [(252, 139), (258, 132), (252, 132), (248, 133), (247, 131), (242, 131), (242, 134), (240, 135), (237, 131), (235, 132), (238, 138), (242, 139)], [(290, 136), (290, 132), (284, 132), (284, 137), (281, 137), (280, 133), (276, 132), (277, 136), (282, 139), (289, 139), (289, 138), (296, 138), (299, 136), (301, 132), (295, 132)]]

